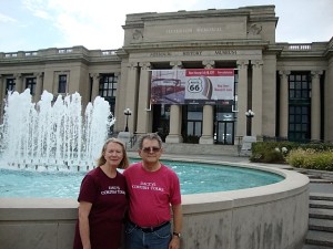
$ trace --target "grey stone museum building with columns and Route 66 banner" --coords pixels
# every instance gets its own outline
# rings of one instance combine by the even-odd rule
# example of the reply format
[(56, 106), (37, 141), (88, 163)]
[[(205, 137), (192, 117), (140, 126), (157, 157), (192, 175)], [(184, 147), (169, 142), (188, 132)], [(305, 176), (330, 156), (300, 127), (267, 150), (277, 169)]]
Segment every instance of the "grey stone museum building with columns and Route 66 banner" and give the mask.
[(120, 49), (0, 52), (1, 113), (8, 91), (30, 89), (33, 102), (78, 92), (83, 105), (110, 103), (115, 134), (332, 142), (333, 39), (276, 43), (278, 24), (274, 6), (134, 13)]

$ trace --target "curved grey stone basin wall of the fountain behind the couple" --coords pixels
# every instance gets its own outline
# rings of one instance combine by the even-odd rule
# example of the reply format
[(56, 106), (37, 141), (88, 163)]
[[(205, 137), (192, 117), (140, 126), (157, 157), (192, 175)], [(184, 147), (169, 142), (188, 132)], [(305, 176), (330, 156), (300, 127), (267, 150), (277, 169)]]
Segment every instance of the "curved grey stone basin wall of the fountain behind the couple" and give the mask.
[[(309, 178), (254, 164), (238, 166), (285, 179), (242, 190), (183, 195), (181, 248), (301, 249), (307, 232)], [(77, 207), (75, 199), (0, 198), (1, 248), (71, 249)]]

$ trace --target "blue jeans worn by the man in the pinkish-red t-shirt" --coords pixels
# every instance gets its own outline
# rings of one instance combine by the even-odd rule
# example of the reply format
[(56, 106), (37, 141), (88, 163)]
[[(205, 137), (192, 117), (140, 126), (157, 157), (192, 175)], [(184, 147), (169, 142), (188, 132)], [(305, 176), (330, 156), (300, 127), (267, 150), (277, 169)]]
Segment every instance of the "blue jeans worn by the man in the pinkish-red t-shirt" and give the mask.
[(168, 249), (171, 240), (171, 225), (157, 231), (143, 232), (134, 225), (127, 222), (125, 249)]

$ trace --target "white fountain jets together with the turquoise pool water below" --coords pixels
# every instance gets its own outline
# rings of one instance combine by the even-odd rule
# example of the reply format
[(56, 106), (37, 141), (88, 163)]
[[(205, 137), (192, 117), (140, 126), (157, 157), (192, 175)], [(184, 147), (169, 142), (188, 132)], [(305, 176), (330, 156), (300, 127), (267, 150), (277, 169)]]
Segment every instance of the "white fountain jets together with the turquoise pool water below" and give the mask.
[[(115, 120), (102, 97), (82, 115), (81, 96), (57, 100), (47, 91), (31, 103), (30, 91), (8, 93), (0, 125), (0, 197), (77, 198), (81, 180)], [(252, 188), (281, 176), (260, 170), (164, 162), (180, 177), (183, 195)], [(80, 167), (78, 167), (80, 165)]]

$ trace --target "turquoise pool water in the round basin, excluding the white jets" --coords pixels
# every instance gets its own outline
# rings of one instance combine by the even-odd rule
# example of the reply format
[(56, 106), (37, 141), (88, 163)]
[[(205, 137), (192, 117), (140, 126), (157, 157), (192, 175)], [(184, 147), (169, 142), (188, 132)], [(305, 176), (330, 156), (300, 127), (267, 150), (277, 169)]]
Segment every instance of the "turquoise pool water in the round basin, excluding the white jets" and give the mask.
[[(252, 188), (283, 179), (276, 174), (241, 167), (168, 160), (163, 163), (179, 175), (182, 195)], [(2, 168), (0, 197), (77, 198), (84, 174)]]

